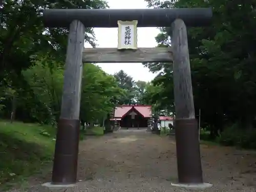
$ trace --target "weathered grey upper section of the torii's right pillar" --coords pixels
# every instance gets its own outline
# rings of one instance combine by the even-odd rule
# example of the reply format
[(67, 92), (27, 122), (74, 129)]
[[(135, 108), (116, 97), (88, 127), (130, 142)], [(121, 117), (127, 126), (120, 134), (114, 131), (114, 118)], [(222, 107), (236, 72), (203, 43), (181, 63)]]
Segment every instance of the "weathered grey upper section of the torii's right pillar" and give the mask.
[(195, 109), (187, 44), (187, 30), (181, 19), (176, 19), (173, 22), (172, 29), (176, 119), (193, 119), (195, 118)]

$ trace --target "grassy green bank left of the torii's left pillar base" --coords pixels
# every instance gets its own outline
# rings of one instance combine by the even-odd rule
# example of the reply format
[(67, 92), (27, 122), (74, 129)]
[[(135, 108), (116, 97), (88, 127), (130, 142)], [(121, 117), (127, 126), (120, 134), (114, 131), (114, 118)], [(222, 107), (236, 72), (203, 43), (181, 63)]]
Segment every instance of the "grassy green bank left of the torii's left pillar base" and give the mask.
[(26, 180), (52, 161), (56, 129), (0, 121), (0, 185)]

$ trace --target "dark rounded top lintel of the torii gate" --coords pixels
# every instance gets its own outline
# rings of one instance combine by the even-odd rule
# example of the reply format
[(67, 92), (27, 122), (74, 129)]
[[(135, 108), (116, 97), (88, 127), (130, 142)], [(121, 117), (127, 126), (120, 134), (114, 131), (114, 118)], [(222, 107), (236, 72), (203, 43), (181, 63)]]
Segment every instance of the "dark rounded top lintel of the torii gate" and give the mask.
[(85, 27), (118, 27), (118, 20), (138, 20), (138, 27), (170, 27), (181, 18), (188, 27), (210, 25), (211, 8), (175, 9), (47, 9), (43, 12), (46, 27), (69, 27), (80, 20)]

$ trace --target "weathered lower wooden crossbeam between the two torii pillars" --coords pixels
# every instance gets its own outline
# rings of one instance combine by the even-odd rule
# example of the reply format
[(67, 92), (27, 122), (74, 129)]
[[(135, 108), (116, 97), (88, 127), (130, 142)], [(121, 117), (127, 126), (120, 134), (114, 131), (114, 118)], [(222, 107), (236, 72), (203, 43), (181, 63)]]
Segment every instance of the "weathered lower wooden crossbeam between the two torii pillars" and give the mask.
[(117, 50), (117, 48), (84, 49), (83, 62), (172, 62), (171, 48), (139, 48)]

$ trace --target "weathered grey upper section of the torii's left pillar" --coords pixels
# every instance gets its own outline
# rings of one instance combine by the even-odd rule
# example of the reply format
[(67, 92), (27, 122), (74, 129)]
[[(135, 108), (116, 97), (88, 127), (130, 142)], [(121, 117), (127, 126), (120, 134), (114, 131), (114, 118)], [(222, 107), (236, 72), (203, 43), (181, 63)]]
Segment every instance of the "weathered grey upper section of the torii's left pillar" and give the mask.
[(79, 119), (84, 32), (78, 20), (70, 24), (60, 118)]

